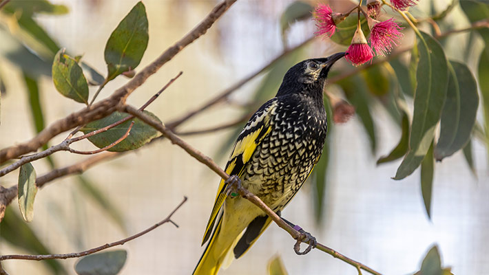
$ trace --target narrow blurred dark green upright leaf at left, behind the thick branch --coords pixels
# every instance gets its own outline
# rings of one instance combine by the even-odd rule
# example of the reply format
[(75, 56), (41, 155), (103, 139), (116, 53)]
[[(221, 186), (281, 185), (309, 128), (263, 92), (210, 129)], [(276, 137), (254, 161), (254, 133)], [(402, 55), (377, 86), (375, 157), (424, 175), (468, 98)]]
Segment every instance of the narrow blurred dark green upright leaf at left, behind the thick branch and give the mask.
[[(37, 84), (36, 79), (31, 78), (30, 76), (25, 74), (25, 72), (23, 72), (23, 78), (25, 81), (25, 85), (27, 86), (32, 121), (34, 122), (36, 132), (39, 133), (44, 129), (44, 115), (43, 109), (41, 107), (41, 99), (39, 98), (39, 85)], [(48, 143), (43, 145), (43, 150), (46, 150), (48, 148)], [(54, 168), (54, 161), (52, 160), (52, 157), (50, 155), (48, 155), (44, 159), (46, 159), (46, 161), (50, 164), (51, 168)]]

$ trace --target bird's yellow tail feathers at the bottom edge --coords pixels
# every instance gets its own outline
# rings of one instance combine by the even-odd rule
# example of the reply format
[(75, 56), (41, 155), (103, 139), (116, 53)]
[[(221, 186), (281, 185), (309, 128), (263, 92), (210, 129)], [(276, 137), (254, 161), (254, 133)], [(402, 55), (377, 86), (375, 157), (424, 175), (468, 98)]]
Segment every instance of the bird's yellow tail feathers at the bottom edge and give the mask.
[(233, 234), (219, 234), (222, 227), (222, 217), (220, 217), (216, 229), (207, 243), (204, 253), (200, 257), (194, 275), (216, 275), (221, 265), (229, 265), (234, 258), (233, 248), (242, 234), (237, 237)]

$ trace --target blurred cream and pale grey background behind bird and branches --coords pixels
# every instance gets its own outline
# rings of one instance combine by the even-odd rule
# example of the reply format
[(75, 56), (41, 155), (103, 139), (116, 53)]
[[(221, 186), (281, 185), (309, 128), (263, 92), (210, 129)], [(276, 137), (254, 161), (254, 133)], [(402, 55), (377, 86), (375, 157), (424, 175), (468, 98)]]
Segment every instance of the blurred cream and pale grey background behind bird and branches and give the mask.
[[(73, 56), (83, 55), (83, 61), (105, 75), (105, 43), (136, 1), (51, 2), (64, 5), (67, 10), (34, 11), (32, 18), (54, 39), (55, 45), (65, 47)], [(149, 44), (136, 71), (194, 28), (217, 2), (143, 1), (149, 21)], [(292, 2), (238, 1), (207, 34), (149, 78), (128, 102), (141, 106), (170, 78), (183, 71), (183, 76), (147, 108), (167, 122), (256, 72), (285, 48), (292, 48), (313, 36), (315, 26), (311, 19), (294, 23), (287, 30), (287, 36), (282, 36), (281, 17)], [(443, 10), (446, 2), (421, 1), (413, 14), (422, 16), (433, 9)], [(314, 6), (317, 2), (308, 3)], [(339, 11), (346, 11), (352, 5), (346, 0), (329, 3)], [(33, 119), (32, 89), (26, 85), (29, 83), (26, 79), (39, 86), (45, 125), (81, 109), (82, 105), (63, 98), (56, 91), (50, 78), (51, 61), (42, 58), (39, 62), (32, 61), (34, 57), (30, 55), (36, 52), (35, 41), (19, 30), (15, 19), (19, 14), (15, 17), (15, 13), (4, 11), (0, 15), (0, 75), (5, 87), (1, 95), (0, 148), (5, 148), (30, 139), (39, 127), (40, 122)], [(468, 25), (458, 6), (450, 13), (448, 21), (453, 28)], [(402, 46), (413, 43), (411, 36), (406, 32)], [(468, 57), (461, 54), (469, 36), (468, 33), (457, 34), (445, 41), (446, 54), (468, 62), (473, 68), (477, 65), (474, 56), (478, 54)], [(472, 40), (471, 51), (480, 52), (481, 41)], [(250, 106), (256, 109), (273, 97), (291, 65), (344, 50), (345, 46), (314, 39), (289, 54), (270, 73), (253, 78), (227, 102), (189, 120), (178, 131), (236, 120)], [(340, 61), (333, 68), (333, 75), (351, 69), (353, 67), (346, 61)], [(127, 78), (119, 76), (103, 89), (99, 98), (109, 96), (126, 82)], [(95, 89), (91, 87), (90, 93)], [(342, 88), (337, 84), (326, 89), (342, 96)], [(371, 126), (366, 126), (366, 120), (360, 115), (331, 126), (322, 203), (318, 203), (318, 188), (314, 188), (318, 184), (316, 174), (284, 210), (283, 216), (311, 232), (320, 243), (382, 274), (413, 274), (419, 270), (426, 251), (433, 244), (439, 245), (443, 265), (452, 267), (454, 274), (489, 274), (489, 247), (486, 245), (489, 243), (489, 171), (484, 144), (472, 140), (473, 171), (461, 152), (436, 163), (431, 219), (428, 219), (419, 185), (419, 169), (406, 179), (395, 181), (391, 177), (400, 159), (377, 166), (377, 159), (395, 147), (401, 130), (377, 95), (365, 91), (364, 98), (369, 102), (367, 112)], [(184, 139), (225, 166), (231, 143), (241, 126), (189, 135)], [(61, 142), (64, 137), (65, 134), (59, 135), (51, 144)], [(92, 150), (94, 146), (85, 142), (76, 144), (76, 148)], [(56, 167), (84, 158), (64, 152), (52, 155)], [(43, 159), (33, 165), (37, 175), (51, 169)], [(10, 187), (17, 184), (17, 177), (17, 171), (10, 173), (1, 177), (0, 184)], [(17, 200), (14, 201), (0, 226), (0, 252), (68, 253), (117, 241), (165, 218), (183, 196), (187, 196), (189, 201), (173, 218), (180, 228), (168, 223), (123, 245), (128, 256), (121, 274), (191, 274), (203, 251), (200, 242), (218, 181), (217, 175), (178, 146), (165, 140), (152, 142), (90, 168), (83, 177), (57, 179), (45, 186), (37, 194), (31, 223), (21, 221)], [(323, 193), (319, 197), (322, 196)], [(297, 256), (293, 244), (287, 232), (272, 224), (242, 259), (234, 261), (221, 274), (267, 274), (267, 264), (275, 255), (282, 257), (289, 274), (357, 274), (355, 267), (320, 251)], [(10, 274), (74, 274), (74, 263), (76, 259), (48, 265), (11, 260), (2, 265)]]

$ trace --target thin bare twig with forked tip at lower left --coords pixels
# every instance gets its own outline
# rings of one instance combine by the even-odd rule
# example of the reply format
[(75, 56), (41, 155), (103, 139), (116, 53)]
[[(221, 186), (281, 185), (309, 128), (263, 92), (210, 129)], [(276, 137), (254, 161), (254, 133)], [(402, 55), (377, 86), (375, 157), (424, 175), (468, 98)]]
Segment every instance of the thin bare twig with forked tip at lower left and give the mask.
[(143, 236), (147, 232), (150, 232), (154, 230), (155, 228), (158, 228), (160, 225), (163, 223), (174, 223), (171, 221), (171, 216), (180, 208), (180, 206), (183, 205), (187, 201), (187, 197), (183, 197), (183, 201), (176, 206), (176, 208), (171, 211), (171, 213), (163, 219), (163, 221), (160, 221), (159, 223), (156, 223), (150, 228), (147, 228), (146, 230), (143, 230), (137, 234), (134, 234), (132, 236), (129, 236), (125, 239), (122, 239), (120, 241), (115, 241), (114, 243), (106, 243), (105, 245), (98, 246), (97, 248), (92, 248), (90, 250), (85, 250), (83, 252), (78, 252), (78, 253), (67, 253), (67, 254), (44, 254), (44, 255), (17, 255), (17, 254), (12, 254), (12, 255), (3, 255), (0, 256), (0, 261), (4, 260), (10, 260), (10, 259), (19, 259), (19, 260), (32, 260), (32, 261), (41, 261), (41, 260), (50, 260), (50, 259), (68, 259), (68, 258), (79, 258), (82, 256), (87, 256), (89, 254), (93, 254), (95, 252), (99, 252), (101, 250), (105, 250), (107, 248), (112, 248), (116, 245), (123, 245), (124, 243), (127, 243), (128, 241), (132, 241), (140, 236)]

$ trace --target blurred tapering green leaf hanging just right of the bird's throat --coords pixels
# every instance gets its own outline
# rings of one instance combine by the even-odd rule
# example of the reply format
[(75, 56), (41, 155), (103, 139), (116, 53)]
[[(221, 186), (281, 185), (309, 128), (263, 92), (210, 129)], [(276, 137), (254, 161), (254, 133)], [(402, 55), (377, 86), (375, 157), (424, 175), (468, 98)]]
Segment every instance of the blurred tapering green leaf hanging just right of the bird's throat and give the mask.
[(351, 76), (341, 80), (337, 84), (342, 87), (346, 98), (355, 106), (355, 112), (359, 116), (370, 140), (371, 152), (375, 155), (377, 148), (375, 125), (370, 113), (370, 98), (368, 97), (364, 81), (360, 76)]

